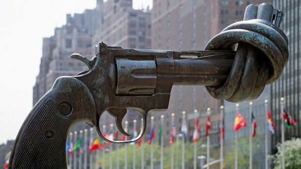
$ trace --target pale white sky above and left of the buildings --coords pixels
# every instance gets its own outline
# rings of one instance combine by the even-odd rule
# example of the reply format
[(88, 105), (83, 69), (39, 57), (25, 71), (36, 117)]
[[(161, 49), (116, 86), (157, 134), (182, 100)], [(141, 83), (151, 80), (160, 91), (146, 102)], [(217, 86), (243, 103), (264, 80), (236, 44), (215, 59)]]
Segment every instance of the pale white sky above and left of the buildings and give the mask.
[[(142, 5), (152, 0), (133, 0), (134, 9)], [(64, 25), (66, 14), (95, 6), (96, 0), (0, 0), (0, 144), (17, 137), (33, 107), (42, 38)]]

